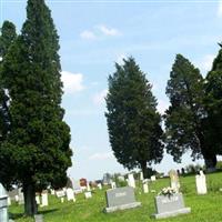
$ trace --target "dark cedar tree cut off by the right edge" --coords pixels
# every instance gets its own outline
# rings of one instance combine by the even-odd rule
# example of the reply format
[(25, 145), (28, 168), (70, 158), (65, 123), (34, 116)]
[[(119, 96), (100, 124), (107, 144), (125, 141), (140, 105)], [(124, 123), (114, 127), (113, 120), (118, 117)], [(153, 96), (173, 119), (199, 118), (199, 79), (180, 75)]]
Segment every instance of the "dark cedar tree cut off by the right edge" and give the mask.
[(206, 75), (205, 92), (210, 148), (216, 154), (222, 154), (222, 49)]

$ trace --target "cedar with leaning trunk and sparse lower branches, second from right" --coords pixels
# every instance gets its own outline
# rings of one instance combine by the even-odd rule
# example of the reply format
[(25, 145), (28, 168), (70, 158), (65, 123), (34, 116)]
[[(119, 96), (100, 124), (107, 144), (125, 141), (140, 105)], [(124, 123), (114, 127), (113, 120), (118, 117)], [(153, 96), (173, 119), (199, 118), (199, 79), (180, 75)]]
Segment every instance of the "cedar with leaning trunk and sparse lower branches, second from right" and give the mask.
[(188, 59), (178, 54), (168, 81), (167, 94), (171, 105), (165, 112), (167, 151), (180, 162), (191, 150), (193, 159), (203, 155), (206, 168), (214, 165), (215, 154), (209, 150), (204, 80)]

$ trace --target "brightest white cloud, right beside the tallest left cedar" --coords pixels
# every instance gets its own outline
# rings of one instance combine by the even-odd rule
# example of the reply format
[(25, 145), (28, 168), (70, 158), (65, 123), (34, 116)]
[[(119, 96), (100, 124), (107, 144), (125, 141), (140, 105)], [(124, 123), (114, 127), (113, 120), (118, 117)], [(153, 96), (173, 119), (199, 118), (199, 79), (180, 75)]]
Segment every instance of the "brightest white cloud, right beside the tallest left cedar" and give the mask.
[(81, 73), (71, 73), (68, 71), (62, 71), (61, 80), (63, 82), (64, 93), (75, 93), (84, 89), (82, 84), (83, 74)]

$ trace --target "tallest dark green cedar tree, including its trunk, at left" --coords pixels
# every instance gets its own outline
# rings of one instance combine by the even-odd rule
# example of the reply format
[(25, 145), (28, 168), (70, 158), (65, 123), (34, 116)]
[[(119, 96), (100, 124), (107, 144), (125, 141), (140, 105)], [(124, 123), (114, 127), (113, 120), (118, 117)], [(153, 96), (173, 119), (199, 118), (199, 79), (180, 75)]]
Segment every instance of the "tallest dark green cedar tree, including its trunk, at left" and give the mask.
[(3, 61), (11, 129), (2, 152), (22, 183), (24, 213), (37, 213), (36, 191), (67, 183), (70, 129), (61, 109), (59, 37), (43, 0), (28, 0), (21, 36)]

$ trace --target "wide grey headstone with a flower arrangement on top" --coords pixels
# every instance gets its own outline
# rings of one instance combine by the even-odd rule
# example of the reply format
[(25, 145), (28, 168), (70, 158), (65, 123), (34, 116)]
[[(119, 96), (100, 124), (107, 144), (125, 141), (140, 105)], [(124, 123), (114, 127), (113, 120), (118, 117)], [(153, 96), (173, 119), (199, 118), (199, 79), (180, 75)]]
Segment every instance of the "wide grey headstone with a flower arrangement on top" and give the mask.
[(178, 214), (190, 213), (191, 209), (184, 206), (182, 193), (174, 193), (172, 195), (155, 196), (157, 213), (153, 214), (155, 219), (163, 219), (175, 216)]

